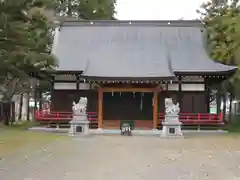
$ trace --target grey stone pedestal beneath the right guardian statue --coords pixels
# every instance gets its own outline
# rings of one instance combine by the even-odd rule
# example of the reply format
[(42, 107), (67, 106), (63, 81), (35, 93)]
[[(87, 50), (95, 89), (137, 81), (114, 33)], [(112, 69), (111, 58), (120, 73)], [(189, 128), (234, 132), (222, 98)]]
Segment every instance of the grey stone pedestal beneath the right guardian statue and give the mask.
[(183, 137), (181, 124), (178, 115), (166, 115), (161, 137)]

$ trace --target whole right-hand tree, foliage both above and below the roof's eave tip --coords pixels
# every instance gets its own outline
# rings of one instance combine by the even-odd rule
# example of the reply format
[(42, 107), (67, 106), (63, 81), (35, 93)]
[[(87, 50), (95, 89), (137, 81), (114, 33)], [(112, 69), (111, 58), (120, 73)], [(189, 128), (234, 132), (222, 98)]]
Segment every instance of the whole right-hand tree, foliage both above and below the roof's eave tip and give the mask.
[[(207, 51), (212, 59), (227, 65), (240, 65), (240, 28), (238, 27), (240, 17), (239, 0), (231, 0), (228, 3), (202, 4), (201, 20), (207, 34)], [(221, 84), (220, 91), (226, 100), (226, 92), (230, 92), (230, 100), (239, 86), (239, 72), (231, 79)], [(224, 103), (225, 104), (225, 103)], [(224, 108), (225, 110), (225, 108)], [(230, 113), (231, 114), (231, 113)]]

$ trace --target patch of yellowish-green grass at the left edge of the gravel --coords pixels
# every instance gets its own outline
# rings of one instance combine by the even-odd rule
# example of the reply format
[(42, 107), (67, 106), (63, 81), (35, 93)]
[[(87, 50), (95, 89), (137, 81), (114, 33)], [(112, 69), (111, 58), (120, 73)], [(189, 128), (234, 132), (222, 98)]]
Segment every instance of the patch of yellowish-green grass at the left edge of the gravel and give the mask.
[(9, 127), (0, 126), (0, 157), (22, 148), (38, 148), (66, 137), (56, 133), (28, 131), (27, 129), (32, 125), (32, 123), (23, 123)]

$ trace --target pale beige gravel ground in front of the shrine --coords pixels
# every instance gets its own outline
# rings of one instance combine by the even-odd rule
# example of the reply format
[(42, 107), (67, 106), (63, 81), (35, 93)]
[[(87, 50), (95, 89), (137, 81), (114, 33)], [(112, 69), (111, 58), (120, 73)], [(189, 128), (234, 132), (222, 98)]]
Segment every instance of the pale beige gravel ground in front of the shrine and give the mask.
[(1, 180), (235, 180), (240, 137), (91, 136), (0, 160)]

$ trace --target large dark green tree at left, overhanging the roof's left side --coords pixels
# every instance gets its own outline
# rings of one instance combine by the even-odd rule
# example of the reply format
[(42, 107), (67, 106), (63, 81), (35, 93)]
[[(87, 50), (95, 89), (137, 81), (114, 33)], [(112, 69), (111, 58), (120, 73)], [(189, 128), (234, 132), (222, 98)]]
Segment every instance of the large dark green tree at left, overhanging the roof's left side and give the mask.
[[(44, 15), (49, 2), (0, 1), (0, 83), (4, 102), (11, 101), (29, 75), (57, 65), (50, 55), (52, 24)], [(8, 123), (6, 119), (5, 124)]]

